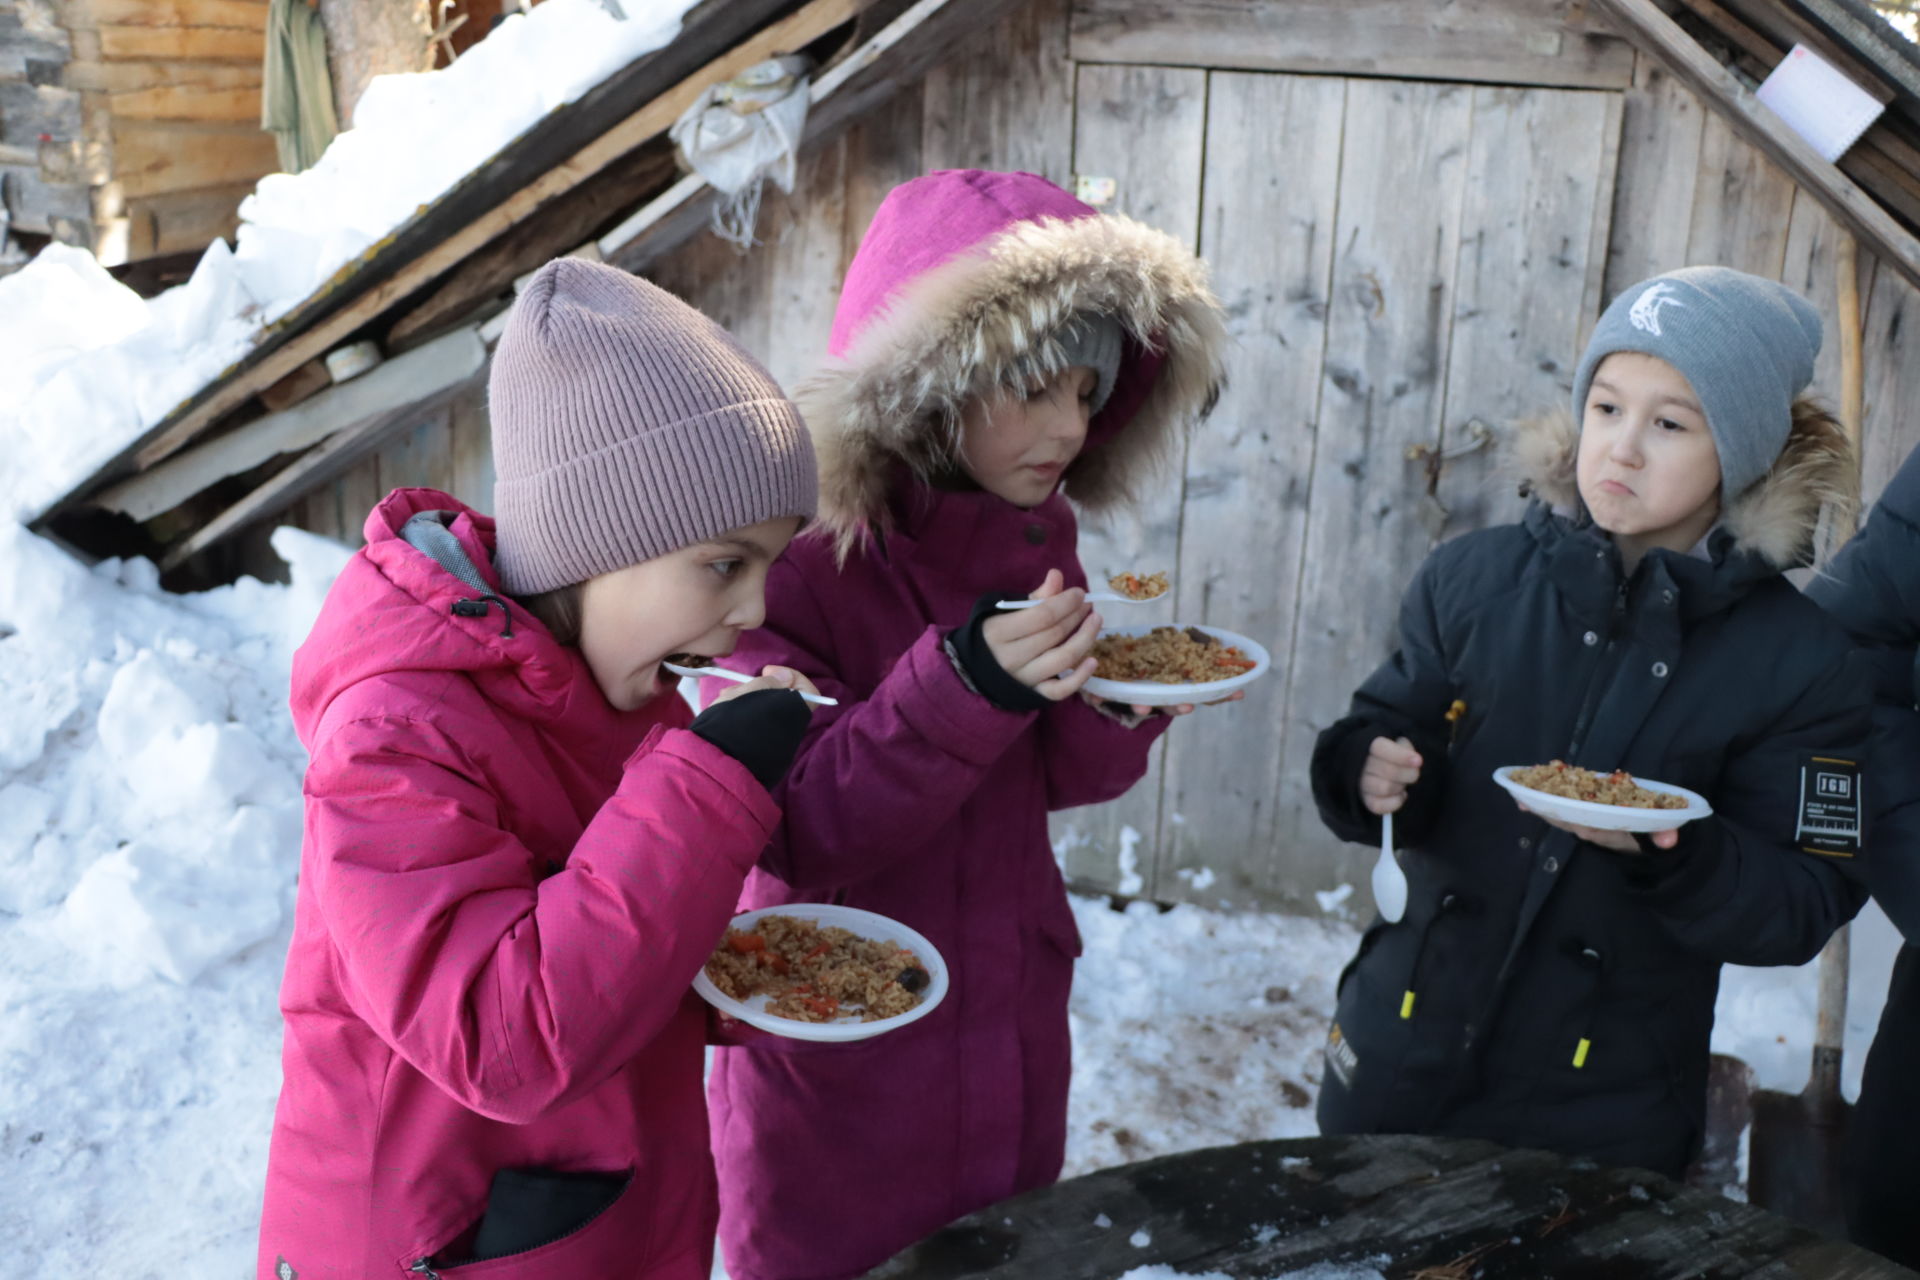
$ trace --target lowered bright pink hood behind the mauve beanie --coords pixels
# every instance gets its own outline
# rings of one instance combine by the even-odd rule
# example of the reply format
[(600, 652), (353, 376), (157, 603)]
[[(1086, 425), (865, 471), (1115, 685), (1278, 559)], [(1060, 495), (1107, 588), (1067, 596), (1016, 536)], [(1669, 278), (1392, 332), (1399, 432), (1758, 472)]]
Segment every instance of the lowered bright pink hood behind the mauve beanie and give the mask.
[[(451, 512), (447, 532), (486, 591), (407, 543), (407, 520), (432, 510)], [(294, 729), (309, 750), (334, 699), (374, 676), (459, 672), (528, 718), (563, 714), (582, 691), (599, 697), (580, 654), (505, 599), (490, 516), (438, 489), (394, 489), (369, 512), (365, 535), (367, 545), (334, 580), (313, 631), (294, 652)]]

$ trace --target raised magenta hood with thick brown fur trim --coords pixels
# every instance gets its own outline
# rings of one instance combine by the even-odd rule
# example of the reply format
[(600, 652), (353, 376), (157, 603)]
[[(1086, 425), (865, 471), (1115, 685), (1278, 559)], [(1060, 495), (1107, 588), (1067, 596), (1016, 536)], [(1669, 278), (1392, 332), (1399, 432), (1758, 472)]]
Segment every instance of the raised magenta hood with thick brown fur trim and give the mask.
[(820, 455), (820, 524), (841, 555), (885, 530), (902, 470), (950, 470), (960, 409), (1050, 376), (1079, 315), (1125, 332), (1119, 376), (1068, 470), (1089, 510), (1129, 501), (1223, 384), (1206, 265), (1031, 173), (943, 171), (895, 188), (847, 271), (831, 363), (795, 393)]

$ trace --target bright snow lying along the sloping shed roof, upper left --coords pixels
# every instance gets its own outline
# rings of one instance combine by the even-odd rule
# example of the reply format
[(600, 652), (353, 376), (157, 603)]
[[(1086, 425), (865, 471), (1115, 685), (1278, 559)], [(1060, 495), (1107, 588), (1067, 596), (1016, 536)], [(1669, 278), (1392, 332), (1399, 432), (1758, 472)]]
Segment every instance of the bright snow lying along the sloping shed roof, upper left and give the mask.
[(422, 205), (609, 75), (668, 44), (693, 0), (547, 0), (442, 71), (376, 77), (300, 175), (240, 205), (236, 248), (152, 301), (84, 249), (48, 246), (0, 278), (0, 518), (44, 510), (252, 349)]

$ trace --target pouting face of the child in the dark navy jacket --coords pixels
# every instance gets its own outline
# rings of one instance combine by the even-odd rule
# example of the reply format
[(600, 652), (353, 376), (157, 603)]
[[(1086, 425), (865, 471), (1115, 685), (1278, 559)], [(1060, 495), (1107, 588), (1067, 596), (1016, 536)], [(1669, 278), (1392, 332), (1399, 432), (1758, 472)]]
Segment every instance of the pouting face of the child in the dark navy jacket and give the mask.
[(1580, 497), (1636, 547), (1690, 551), (1720, 514), (1720, 455), (1678, 368), (1615, 351), (1594, 370), (1580, 418)]

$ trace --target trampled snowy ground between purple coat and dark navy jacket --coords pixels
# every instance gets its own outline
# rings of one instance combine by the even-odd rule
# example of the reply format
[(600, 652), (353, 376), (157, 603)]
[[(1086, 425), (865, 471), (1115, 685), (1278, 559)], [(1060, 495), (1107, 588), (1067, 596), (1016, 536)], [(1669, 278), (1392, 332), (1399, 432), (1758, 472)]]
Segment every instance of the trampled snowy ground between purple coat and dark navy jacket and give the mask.
[(1064, 1176), (1317, 1132), (1338, 921), (1075, 898), (1073, 1090)]

